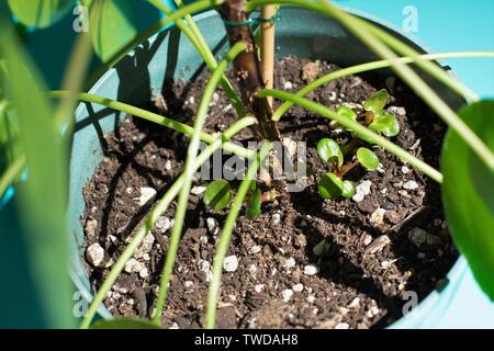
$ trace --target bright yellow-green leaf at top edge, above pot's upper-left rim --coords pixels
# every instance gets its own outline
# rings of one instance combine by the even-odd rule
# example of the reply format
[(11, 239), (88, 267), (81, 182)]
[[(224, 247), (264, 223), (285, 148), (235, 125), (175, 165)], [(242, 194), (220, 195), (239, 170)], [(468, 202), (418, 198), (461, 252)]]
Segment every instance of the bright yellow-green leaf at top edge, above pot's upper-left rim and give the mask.
[(91, 1), (89, 25), (94, 52), (104, 63), (137, 34), (130, 1)]

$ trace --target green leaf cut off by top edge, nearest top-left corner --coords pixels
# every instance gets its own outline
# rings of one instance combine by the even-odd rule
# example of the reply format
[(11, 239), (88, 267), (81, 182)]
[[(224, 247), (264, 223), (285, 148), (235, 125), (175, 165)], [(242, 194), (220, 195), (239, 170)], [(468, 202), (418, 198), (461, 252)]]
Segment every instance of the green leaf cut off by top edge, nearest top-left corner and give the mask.
[(25, 25), (43, 29), (60, 20), (72, 0), (8, 0), (10, 10)]

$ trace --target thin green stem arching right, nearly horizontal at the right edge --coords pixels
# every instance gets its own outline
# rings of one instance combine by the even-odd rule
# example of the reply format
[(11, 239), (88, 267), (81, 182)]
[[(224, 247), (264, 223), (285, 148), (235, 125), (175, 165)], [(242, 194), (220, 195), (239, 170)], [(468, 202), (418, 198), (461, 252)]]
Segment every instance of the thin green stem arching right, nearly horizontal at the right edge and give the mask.
[[(437, 59), (446, 59), (446, 58), (469, 58), (469, 57), (494, 57), (494, 53), (482, 53), (482, 52), (465, 52), (465, 53), (445, 53), (445, 54), (427, 54), (427, 55), (420, 55), (422, 59), (425, 60), (437, 60)], [(416, 61), (416, 58), (412, 58), (412, 57), (400, 57), (397, 59), (398, 61), (403, 63), (403, 64), (413, 64)], [(372, 63), (367, 63), (367, 64), (361, 64), (361, 65), (356, 65), (356, 66), (351, 66), (351, 67), (347, 67), (347, 68), (343, 68), (339, 69), (337, 71), (327, 73), (316, 80), (314, 80), (313, 82), (311, 82), (310, 84), (305, 86), (304, 88), (302, 88), (301, 90), (299, 90), (296, 92), (297, 97), (305, 97), (307, 93), (310, 93), (311, 91), (330, 82), (332, 80), (335, 79), (339, 79), (343, 77), (347, 77), (350, 75), (357, 75), (357, 73), (361, 73), (361, 72), (367, 72), (370, 70), (374, 70), (374, 69), (381, 69), (381, 68), (386, 68), (386, 67), (391, 67), (392, 66), (392, 61), (389, 59), (382, 59), (382, 60), (378, 60), (378, 61), (372, 61)], [(442, 80), (441, 82), (445, 84), (448, 84), (448, 87), (451, 88), (451, 86), (449, 84), (451, 80), (448, 79)], [(272, 120), (273, 121), (279, 121), (281, 118), (281, 116), (293, 105), (293, 103), (291, 103), (290, 101), (285, 101), (283, 102), (272, 114)]]

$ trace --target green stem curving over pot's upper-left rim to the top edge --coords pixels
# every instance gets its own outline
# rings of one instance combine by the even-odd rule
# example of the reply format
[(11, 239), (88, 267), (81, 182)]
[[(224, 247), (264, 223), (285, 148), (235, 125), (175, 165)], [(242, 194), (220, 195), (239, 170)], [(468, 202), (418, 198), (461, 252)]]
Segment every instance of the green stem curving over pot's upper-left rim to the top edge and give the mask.
[(199, 0), (191, 4), (188, 4), (187, 7), (183, 7), (181, 9), (178, 9), (173, 13), (171, 13), (166, 19), (162, 19), (151, 25), (146, 31), (139, 33), (136, 35), (135, 38), (133, 38), (127, 45), (125, 45), (123, 48), (121, 48), (115, 55), (112, 56), (108, 61), (103, 63), (101, 66), (99, 66), (90, 76), (86, 83), (87, 87), (93, 86), (97, 80), (111, 67), (113, 67), (117, 61), (122, 59), (130, 50), (132, 50), (136, 45), (141, 44), (145, 39), (147, 39), (149, 36), (161, 30), (162, 27), (167, 26), (168, 24), (172, 23), (173, 21), (183, 18), (186, 14), (197, 13), (202, 10), (207, 9), (211, 5), (210, 0)]

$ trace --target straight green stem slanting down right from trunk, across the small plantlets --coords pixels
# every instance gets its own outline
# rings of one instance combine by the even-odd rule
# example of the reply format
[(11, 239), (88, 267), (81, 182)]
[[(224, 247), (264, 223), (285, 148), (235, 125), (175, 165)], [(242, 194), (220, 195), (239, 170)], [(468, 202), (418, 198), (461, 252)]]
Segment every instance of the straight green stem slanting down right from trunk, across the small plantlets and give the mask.
[(355, 132), (357, 135), (362, 136), (366, 139), (372, 140), (377, 145), (381, 146), (383, 149), (396, 155), (397, 157), (400, 157), (404, 161), (408, 162), (411, 166), (415, 167), (423, 173), (427, 174), (428, 177), (430, 177), (438, 183), (442, 182), (442, 174), (439, 171), (437, 171), (436, 169), (434, 169), (433, 167), (430, 167), (429, 165), (427, 165), (426, 162), (424, 162), (423, 160), (419, 160), (415, 156), (408, 154), (407, 151), (402, 149), (400, 146), (397, 146), (396, 144), (382, 137), (381, 135), (366, 128), (360, 123), (355, 122), (350, 118), (341, 117), (335, 111), (329, 110), (322, 104), (318, 104), (318, 103), (315, 103), (307, 99), (297, 97), (295, 94), (291, 94), (291, 93), (288, 93), (284, 91), (279, 91), (279, 90), (265, 89), (265, 90), (259, 91), (259, 94), (262, 97), (271, 95), (271, 97), (274, 97), (276, 99), (291, 101), (292, 103), (301, 105), (304, 109), (307, 109), (307, 110), (311, 110), (312, 112), (321, 114), (325, 118), (336, 121), (344, 127), (349, 128), (352, 132)]

